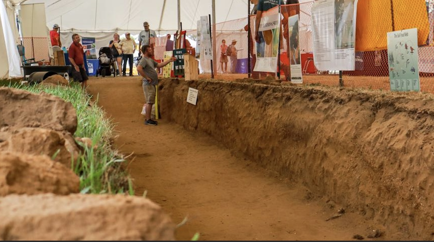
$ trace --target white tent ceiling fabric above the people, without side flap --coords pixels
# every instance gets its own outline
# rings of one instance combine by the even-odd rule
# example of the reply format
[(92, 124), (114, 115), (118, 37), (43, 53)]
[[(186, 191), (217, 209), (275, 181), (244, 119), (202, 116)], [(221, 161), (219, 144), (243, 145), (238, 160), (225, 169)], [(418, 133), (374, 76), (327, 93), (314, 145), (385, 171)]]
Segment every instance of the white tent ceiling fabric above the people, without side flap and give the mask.
[[(138, 34), (143, 30), (145, 21), (148, 21), (151, 29), (160, 34), (174, 33), (178, 29), (178, 0), (10, 0), (10, 2), (45, 3), (46, 21), (50, 29), (57, 23), (61, 30), (88, 32), (117, 30)], [(247, 17), (247, 4), (250, 4), (249, 0), (215, 0), (216, 22)], [(164, 10), (163, 6), (165, 6)], [(212, 14), (212, 0), (180, 0), (180, 6), (183, 30), (197, 29), (197, 21), (201, 16)], [(253, 8), (253, 4), (250, 8)]]

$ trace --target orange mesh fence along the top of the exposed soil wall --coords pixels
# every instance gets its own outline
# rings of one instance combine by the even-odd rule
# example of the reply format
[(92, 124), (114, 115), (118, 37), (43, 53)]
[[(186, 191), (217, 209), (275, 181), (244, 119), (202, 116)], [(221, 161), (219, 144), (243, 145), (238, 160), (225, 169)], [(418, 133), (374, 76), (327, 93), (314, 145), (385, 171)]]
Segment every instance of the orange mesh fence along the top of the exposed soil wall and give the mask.
[[(411, 4), (410, 4), (411, 2)], [(339, 86), (339, 70), (318, 70), (313, 61), (313, 36), (311, 15), (313, 1), (308, 3), (280, 6), (282, 33), (280, 39), (279, 78), (289, 79), (287, 55), (288, 34), (285, 26), (287, 16), (299, 14), (299, 46), (304, 84)], [(419, 72), (422, 92), (434, 93), (434, 0), (358, 0), (355, 33), (355, 70), (342, 71), (343, 85), (347, 87), (390, 90), (387, 33), (402, 29), (418, 29)], [(279, 13), (275, 7), (263, 16)], [(250, 16), (251, 36), (254, 33), (255, 15)], [(238, 63), (236, 73), (250, 73), (252, 78), (275, 75), (270, 72), (253, 72), (256, 62), (256, 45), (248, 36), (248, 19), (239, 19), (216, 24), (217, 73), (225, 71), (225, 62), (220, 62), (220, 46), (223, 39), (229, 45), (237, 40)], [(191, 32), (190, 34), (195, 34)], [(286, 33), (286, 34), (285, 34)], [(189, 34), (189, 33), (187, 33)], [(250, 40), (249, 40), (250, 39)], [(228, 44), (229, 43), (229, 44)], [(250, 55), (248, 47), (250, 45)], [(250, 58), (249, 58), (250, 57)], [(250, 63), (249, 63), (250, 59)], [(210, 72), (210, 61), (201, 53), (201, 69)], [(230, 60), (227, 73), (230, 73)], [(250, 65), (250, 70), (248, 66)], [(222, 68), (223, 67), (223, 68)]]

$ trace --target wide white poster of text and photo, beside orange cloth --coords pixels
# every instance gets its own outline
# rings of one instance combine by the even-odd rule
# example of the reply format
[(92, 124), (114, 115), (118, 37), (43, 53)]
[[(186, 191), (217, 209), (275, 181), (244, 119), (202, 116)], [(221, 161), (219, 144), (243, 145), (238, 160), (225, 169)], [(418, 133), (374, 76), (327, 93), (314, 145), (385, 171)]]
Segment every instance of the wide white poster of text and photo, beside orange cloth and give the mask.
[(321, 71), (355, 69), (358, 0), (317, 0), (312, 5), (313, 59)]

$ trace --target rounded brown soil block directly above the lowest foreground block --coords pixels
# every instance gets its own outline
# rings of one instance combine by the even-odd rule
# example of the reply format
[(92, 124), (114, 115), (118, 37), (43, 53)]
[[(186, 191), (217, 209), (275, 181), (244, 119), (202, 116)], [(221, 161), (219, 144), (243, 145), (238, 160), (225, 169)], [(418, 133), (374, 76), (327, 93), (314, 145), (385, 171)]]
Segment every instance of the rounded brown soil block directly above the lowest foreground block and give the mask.
[(0, 157), (0, 196), (80, 191), (79, 177), (48, 156), (0, 151)]

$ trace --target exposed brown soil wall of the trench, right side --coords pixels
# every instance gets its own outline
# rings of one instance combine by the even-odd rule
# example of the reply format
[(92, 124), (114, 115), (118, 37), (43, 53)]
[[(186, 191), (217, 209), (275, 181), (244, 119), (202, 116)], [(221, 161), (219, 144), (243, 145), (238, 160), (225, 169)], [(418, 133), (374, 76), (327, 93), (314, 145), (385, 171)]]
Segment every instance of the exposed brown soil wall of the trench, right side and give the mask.
[[(186, 102), (198, 89), (197, 105)], [(434, 101), (257, 80), (164, 79), (162, 118), (214, 137), (388, 232), (433, 239)]]

